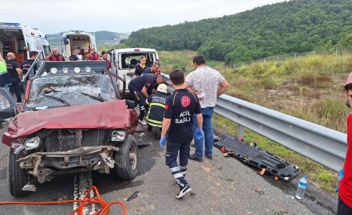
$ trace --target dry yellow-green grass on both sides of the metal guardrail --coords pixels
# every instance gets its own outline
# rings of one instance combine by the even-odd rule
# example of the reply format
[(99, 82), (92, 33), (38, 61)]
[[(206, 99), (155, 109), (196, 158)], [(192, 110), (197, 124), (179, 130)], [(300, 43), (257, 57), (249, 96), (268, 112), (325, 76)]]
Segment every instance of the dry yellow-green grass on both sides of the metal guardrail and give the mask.
[[(191, 59), (195, 51), (159, 53), (163, 72), (168, 73), (177, 65), (185, 67), (186, 73), (193, 70)], [(346, 133), (346, 119), (351, 111), (345, 105), (343, 86), (352, 72), (351, 51), (338, 56), (325, 53), (289, 58), (279, 64), (256, 62), (236, 69), (226, 69), (218, 61), (212, 63), (230, 83), (225, 94)], [(236, 135), (236, 124), (224, 117), (215, 115), (213, 125)], [(335, 190), (336, 173), (247, 129), (244, 136), (245, 141), (255, 142), (259, 148), (299, 166), (311, 182), (324, 190)]]

